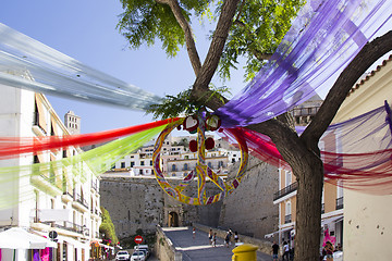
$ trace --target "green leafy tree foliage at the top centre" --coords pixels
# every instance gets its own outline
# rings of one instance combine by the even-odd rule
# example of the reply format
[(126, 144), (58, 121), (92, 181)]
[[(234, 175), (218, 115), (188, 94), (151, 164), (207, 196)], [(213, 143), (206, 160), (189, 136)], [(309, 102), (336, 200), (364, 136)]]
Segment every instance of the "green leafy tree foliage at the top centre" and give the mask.
[[(160, 41), (168, 57), (175, 57), (186, 45), (191, 61), (195, 60), (194, 70), (199, 70), (192, 22), (216, 22), (223, 1), (121, 0), (121, 3), (124, 12), (120, 15), (118, 28), (130, 48), (137, 49), (144, 44), (154, 46)], [(260, 70), (262, 61), (274, 52), (303, 3), (303, 0), (242, 1), (224, 45), (219, 75), (230, 78), (231, 70), (236, 69), (238, 60), (244, 58), (247, 60), (245, 77), (250, 79)], [(209, 34), (212, 38), (216, 30)]]

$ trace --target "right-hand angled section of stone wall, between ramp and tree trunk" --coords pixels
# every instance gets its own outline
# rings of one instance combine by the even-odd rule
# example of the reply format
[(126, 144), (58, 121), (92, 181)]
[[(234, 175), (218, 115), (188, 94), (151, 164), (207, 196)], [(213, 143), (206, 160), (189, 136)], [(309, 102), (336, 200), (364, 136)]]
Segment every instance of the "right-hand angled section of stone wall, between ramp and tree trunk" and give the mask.
[(279, 189), (278, 169), (253, 157), (247, 169), (240, 186), (223, 200), (219, 226), (264, 238), (278, 229), (279, 209), (273, 204), (273, 194)]

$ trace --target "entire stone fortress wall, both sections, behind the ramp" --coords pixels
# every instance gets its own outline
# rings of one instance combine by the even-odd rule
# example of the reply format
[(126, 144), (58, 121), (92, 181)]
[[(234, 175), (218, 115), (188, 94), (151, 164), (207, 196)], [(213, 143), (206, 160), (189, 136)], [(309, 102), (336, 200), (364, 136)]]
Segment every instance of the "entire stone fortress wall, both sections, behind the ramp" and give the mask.
[[(230, 176), (235, 172), (233, 169)], [(135, 235), (138, 228), (152, 234), (158, 224), (188, 226), (193, 223), (230, 227), (243, 235), (264, 238), (265, 234), (278, 229), (278, 207), (272, 203), (278, 178), (278, 169), (250, 158), (241, 185), (223, 202), (196, 207), (169, 197), (154, 177), (106, 174), (100, 181), (101, 206), (109, 211), (120, 239)], [(177, 181), (169, 179), (169, 183), (174, 187)], [(193, 184), (184, 194), (195, 196), (196, 191)], [(207, 191), (210, 196), (220, 190), (207, 183)]]

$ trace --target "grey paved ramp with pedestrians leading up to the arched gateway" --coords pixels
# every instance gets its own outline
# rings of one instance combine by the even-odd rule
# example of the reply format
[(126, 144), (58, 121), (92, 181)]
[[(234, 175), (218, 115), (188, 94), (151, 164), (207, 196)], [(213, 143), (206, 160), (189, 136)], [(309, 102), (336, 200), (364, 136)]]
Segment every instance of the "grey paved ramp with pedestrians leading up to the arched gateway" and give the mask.
[[(192, 236), (188, 227), (162, 227), (174, 247), (183, 252), (184, 261), (230, 261), (233, 256), (233, 246), (224, 247), (222, 238), (217, 238), (217, 247), (212, 248), (205, 232), (196, 231), (196, 237)], [(258, 261), (271, 261), (272, 257), (257, 252)]]

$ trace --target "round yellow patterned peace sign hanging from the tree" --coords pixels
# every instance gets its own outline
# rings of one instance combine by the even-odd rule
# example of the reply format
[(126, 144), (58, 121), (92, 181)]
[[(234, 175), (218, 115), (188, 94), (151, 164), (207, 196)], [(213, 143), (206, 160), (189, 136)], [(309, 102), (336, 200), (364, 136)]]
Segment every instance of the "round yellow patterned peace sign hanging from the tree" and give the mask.
[[(219, 121), (218, 121), (219, 122)], [(193, 152), (197, 152), (197, 163), (195, 170), (191, 171), (184, 179), (175, 187), (169, 184), (164, 174), (160, 167), (161, 165), (161, 149), (164, 144), (164, 138), (175, 128), (177, 127), (181, 122), (169, 124), (167, 128), (162, 130), (159, 135), (152, 153), (152, 164), (154, 164), (154, 172), (156, 178), (161, 186), (161, 188), (172, 198), (187, 204), (210, 204), (215, 203), (224, 196), (231, 194), (241, 183), (242, 177), (245, 174), (248, 153), (247, 153), (247, 146), (245, 140), (243, 139), (241, 129), (231, 129), (233, 137), (236, 139), (240, 150), (241, 150), (241, 165), (235, 178), (231, 182), (224, 182), (219, 175), (217, 175), (206, 162), (206, 149), (212, 149), (213, 147), (213, 139), (211, 138), (206, 139), (205, 132), (207, 128), (207, 121), (201, 114), (187, 116), (183, 120), (184, 129), (187, 129), (189, 133), (197, 132), (197, 141), (192, 140), (189, 142), (189, 149)], [(197, 125), (196, 125), (197, 124)], [(196, 125), (196, 128), (195, 128)], [(217, 125), (215, 125), (217, 126)], [(195, 148), (195, 146), (197, 146)], [(183, 191), (184, 189), (191, 185), (194, 179), (197, 179), (197, 197), (192, 197), (185, 195)], [(221, 192), (208, 196), (206, 182), (211, 181)]]

